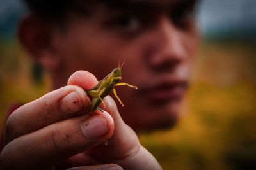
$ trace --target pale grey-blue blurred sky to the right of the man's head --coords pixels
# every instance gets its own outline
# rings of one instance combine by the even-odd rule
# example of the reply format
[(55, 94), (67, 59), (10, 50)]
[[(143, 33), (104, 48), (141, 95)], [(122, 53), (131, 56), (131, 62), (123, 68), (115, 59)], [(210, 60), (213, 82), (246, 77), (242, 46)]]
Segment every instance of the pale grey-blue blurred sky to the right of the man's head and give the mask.
[(202, 30), (255, 29), (255, 0), (203, 0), (199, 11)]

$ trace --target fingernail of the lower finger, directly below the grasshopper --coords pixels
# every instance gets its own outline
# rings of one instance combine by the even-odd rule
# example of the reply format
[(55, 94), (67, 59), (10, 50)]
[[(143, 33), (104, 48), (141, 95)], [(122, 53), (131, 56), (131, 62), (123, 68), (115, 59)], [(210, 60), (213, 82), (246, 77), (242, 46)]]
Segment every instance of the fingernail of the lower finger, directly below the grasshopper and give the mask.
[(89, 139), (99, 138), (109, 131), (106, 120), (100, 115), (89, 118), (89, 120), (82, 124), (81, 129), (83, 134)]

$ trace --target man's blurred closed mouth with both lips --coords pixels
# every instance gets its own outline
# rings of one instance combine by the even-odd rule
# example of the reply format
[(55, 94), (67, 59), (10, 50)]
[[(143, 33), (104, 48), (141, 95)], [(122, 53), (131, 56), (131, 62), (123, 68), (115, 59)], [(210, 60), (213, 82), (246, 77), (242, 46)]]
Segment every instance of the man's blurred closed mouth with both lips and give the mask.
[(145, 97), (150, 104), (161, 105), (173, 101), (181, 101), (184, 97), (186, 89), (188, 89), (188, 81), (184, 80), (161, 80), (148, 87), (142, 87), (140, 94)]

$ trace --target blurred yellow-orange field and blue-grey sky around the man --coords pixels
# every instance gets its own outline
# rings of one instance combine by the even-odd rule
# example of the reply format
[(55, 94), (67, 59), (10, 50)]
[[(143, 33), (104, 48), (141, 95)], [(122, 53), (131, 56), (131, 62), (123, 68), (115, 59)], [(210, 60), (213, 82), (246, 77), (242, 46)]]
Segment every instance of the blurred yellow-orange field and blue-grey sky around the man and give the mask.
[[(0, 125), (11, 104), (50, 90), (17, 42), (24, 13), (20, 0), (0, 1)], [(182, 119), (141, 143), (164, 169), (255, 169), (256, 1), (202, 0), (197, 15), (202, 46)]]

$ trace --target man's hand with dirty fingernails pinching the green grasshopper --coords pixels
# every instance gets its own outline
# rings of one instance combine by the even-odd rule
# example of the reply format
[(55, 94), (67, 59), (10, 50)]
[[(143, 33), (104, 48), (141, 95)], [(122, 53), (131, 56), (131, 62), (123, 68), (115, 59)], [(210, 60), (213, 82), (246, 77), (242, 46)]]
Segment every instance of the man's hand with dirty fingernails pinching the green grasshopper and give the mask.
[(67, 86), (15, 110), (6, 124), (0, 169), (161, 169), (110, 96), (102, 111), (88, 114), (84, 90), (96, 83), (91, 73), (77, 71)]

